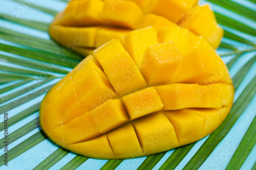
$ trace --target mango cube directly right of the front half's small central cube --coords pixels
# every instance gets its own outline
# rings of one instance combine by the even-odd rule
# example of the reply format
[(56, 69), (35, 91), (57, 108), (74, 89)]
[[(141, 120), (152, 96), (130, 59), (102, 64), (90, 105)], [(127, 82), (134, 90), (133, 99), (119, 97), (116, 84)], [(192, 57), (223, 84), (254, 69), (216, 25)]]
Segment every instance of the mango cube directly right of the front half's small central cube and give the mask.
[(201, 105), (198, 84), (170, 84), (156, 86), (163, 102), (163, 110), (178, 110)]

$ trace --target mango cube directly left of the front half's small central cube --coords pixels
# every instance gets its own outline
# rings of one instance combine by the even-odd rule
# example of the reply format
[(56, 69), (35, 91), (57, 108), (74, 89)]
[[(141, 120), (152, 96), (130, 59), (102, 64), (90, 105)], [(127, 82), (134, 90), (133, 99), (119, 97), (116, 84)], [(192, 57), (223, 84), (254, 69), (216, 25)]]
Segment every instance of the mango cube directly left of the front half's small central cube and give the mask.
[(89, 112), (100, 133), (108, 132), (129, 120), (120, 99), (108, 100)]

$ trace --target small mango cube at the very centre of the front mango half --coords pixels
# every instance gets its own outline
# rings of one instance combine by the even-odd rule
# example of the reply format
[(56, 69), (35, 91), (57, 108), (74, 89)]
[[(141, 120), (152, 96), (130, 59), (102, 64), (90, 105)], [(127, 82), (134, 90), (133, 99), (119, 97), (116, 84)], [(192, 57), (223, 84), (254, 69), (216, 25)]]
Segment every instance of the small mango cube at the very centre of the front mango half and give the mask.
[(154, 87), (126, 95), (122, 100), (131, 119), (136, 119), (163, 108), (163, 104)]

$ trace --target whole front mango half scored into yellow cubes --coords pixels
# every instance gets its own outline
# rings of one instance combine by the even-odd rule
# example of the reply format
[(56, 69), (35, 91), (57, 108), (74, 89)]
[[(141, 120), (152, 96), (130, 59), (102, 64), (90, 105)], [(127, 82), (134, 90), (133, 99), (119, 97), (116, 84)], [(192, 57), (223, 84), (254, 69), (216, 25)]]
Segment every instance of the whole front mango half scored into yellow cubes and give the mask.
[(57, 83), (40, 106), (49, 138), (83, 156), (126, 159), (218, 128), (234, 95), (226, 65), (204, 39), (188, 36), (181, 53), (158, 35), (149, 27), (113, 39)]

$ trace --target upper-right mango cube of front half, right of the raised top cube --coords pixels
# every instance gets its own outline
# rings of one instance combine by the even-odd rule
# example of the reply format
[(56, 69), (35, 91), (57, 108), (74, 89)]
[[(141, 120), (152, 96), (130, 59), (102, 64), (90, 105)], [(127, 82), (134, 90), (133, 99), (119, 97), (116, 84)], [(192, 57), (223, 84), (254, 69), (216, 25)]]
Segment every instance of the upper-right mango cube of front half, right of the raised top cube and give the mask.
[(199, 83), (215, 76), (218, 68), (214, 55), (213, 52), (201, 48), (194, 48), (187, 52), (183, 56), (176, 81), (179, 83)]

